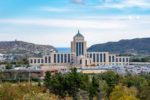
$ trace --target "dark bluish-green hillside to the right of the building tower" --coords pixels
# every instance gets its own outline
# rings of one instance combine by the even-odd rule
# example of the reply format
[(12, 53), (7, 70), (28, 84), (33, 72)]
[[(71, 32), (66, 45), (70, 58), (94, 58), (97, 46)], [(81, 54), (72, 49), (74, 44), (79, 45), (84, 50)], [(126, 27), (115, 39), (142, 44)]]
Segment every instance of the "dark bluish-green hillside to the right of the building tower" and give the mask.
[(132, 40), (120, 40), (95, 44), (88, 48), (89, 52), (108, 51), (117, 54), (150, 54), (150, 38), (137, 38)]

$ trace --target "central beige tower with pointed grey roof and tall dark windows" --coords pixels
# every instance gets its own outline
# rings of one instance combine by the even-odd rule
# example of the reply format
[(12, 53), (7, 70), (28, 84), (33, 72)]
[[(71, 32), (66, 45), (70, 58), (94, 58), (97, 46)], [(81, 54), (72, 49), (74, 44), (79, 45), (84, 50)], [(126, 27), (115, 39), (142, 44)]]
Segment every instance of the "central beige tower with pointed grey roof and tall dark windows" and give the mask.
[(75, 57), (85, 56), (87, 53), (86, 41), (84, 41), (84, 36), (79, 32), (79, 30), (71, 42), (71, 52)]

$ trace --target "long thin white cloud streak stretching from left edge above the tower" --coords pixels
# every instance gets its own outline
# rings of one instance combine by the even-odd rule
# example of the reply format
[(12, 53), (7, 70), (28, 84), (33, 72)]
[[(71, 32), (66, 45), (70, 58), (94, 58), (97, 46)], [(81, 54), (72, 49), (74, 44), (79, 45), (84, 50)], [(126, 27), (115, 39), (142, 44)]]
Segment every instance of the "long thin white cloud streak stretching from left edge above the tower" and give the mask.
[(61, 28), (92, 28), (92, 29), (117, 29), (126, 27), (117, 20), (64, 20), (64, 19), (0, 19), (0, 23), (18, 25), (39, 25)]

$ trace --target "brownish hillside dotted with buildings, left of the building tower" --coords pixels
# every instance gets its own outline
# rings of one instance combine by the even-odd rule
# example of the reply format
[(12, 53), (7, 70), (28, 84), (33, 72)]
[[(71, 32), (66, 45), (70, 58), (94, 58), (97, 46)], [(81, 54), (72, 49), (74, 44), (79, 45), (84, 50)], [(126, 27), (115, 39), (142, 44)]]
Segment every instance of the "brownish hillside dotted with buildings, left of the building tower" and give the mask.
[(37, 45), (23, 41), (1, 41), (0, 53), (27, 54), (33, 55), (38, 53), (48, 53), (57, 51), (51, 45)]

